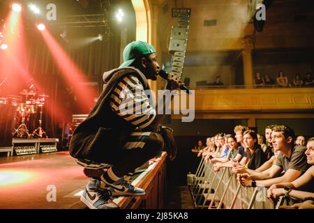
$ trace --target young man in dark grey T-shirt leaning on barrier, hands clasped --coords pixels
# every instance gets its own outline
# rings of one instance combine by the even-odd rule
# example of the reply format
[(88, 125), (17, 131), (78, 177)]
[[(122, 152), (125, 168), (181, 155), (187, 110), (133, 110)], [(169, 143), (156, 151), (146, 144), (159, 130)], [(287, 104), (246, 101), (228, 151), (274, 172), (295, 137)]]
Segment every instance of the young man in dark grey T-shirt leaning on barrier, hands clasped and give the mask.
[[(271, 132), (274, 151), (280, 151), (276, 163), (267, 173), (257, 176), (239, 174), (238, 180), (246, 187), (270, 187), (275, 183), (292, 182), (308, 169), (304, 146), (294, 146), (294, 130), (287, 125), (276, 125)], [(278, 176), (285, 171), (283, 176)], [(255, 181), (256, 180), (256, 181)]]

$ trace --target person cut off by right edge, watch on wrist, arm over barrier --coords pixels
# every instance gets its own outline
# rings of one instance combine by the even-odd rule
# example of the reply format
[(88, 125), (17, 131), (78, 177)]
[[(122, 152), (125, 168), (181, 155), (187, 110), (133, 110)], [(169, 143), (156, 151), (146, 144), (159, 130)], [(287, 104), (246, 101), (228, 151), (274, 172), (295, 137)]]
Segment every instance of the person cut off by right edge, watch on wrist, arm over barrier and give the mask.
[[(308, 164), (311, 167), (299, 178), (291, 183), (276, 183), (269, 187), (267, 197), (276, 199), (279, 196), (285, 195), (300, 199), (306, 202), (311, 208), (314, 208), (314, 137), (308, 139), (306, 145), (306, 157)], [(299, 190), (297, 190), (299, 189)], [(294, 205), (294, 208), (304, 207), (304, 204)]]

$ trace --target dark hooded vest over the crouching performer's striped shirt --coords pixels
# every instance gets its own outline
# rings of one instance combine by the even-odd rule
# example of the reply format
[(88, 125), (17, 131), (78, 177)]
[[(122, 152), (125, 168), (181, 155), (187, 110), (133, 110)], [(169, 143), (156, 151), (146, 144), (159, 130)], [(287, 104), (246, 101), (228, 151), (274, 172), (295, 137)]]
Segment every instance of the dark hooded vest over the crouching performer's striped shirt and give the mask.
[(136, 68), (117, 68), (105, 72), (103, 92), (87, 118), (77, 126), (70, 139), (71, 156), (94, 162), (109, 164), (114, 162), (119, 150), (124, 146), (124, 140), (135, 130), (135, 127), (112, 111), (109, 98), (121, 79), (129, 75), (137, 77), (144, 90), (149, 89), (147, 78)]

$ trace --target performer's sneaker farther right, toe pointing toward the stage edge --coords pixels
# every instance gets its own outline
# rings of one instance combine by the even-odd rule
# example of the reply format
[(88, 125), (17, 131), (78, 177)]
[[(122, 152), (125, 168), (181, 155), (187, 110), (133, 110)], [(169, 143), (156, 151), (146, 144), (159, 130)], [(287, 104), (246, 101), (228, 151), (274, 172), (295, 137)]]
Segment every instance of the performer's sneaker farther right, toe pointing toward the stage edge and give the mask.
[[(100, 178), (102, 178), (101, 176)], [(104, 186), (103, 186), (104, 185)], [(101, 182), (101, 187), (109, 190), (112, 193), (112, 196), (142, 196), (145, 195), (145, 190), (140, 187), (134, 187), (128, 181), (121, 178), (120, 180), (114, 182), (113, 184), (106, 184)]]

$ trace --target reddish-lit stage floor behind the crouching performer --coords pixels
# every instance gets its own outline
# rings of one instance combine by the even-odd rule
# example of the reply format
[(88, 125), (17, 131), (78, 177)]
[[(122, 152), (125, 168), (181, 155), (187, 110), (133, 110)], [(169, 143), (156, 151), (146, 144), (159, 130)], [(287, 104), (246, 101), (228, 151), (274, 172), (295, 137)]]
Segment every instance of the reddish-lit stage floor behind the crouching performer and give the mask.
[(0, 157), (0, 209), (84, 209), (87, 181), (68, 151)]

